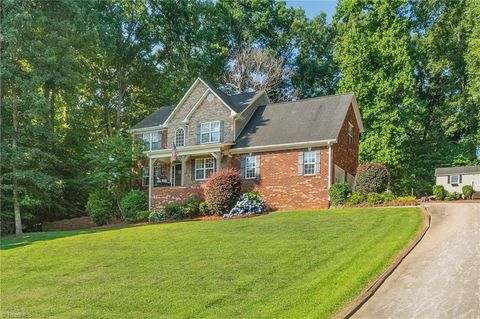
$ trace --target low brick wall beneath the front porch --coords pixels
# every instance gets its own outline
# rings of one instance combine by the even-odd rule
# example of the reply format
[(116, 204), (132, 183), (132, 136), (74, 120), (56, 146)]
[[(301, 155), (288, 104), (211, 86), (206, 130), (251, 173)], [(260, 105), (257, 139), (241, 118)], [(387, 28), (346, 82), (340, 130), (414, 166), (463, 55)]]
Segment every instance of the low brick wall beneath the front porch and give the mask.
[(154, 187), (152, 189), (152, 210), (161, 209), (169, 203), (181, 202), (194, 196), (203, 197), (201, 185)]

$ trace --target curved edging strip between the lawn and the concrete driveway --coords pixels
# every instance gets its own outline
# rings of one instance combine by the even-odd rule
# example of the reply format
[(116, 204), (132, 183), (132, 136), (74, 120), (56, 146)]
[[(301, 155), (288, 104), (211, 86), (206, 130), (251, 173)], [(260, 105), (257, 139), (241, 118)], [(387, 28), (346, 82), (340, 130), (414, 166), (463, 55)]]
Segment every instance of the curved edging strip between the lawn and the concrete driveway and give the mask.
[(427, 233), (431, 225), (431, 216), (428, 213), (425, 206), (420, 206), (423, 215), (423, 224), (422, 228), (415, 237), (415, 239), (399, 254), (393, 262), (385, 269), (380, 276), (373, 280), (361, 293), (345, 306), (340, 312), (338, 312), (333, 318), (335, 319), (347, 319), (353, 316), (357, 310), (359, 310), (367, 301), (370, 299), (373, 294), (380, 288), (380, 286), (385, 282), (385, 280), (393, 273), (393, 271), (400, 265), (400, 263), (408, 256), (408, 254), (418, 245), (422, 238)]

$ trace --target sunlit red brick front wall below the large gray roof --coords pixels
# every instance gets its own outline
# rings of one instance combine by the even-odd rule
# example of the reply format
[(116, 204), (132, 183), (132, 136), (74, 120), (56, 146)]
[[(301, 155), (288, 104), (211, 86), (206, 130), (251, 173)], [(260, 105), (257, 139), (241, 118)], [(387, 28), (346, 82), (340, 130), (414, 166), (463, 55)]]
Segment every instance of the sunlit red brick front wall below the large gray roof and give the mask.
[[(245, 189), (259, 191), (275, 210), (328, 207), (328, 148), (320, 150), (320, 174), (298, 175), (298, 153), (306, 149), (254, 153), (260, 155), (260, 179), (244, 180)], [(240, 167), (240, 155), (232, 158)]]

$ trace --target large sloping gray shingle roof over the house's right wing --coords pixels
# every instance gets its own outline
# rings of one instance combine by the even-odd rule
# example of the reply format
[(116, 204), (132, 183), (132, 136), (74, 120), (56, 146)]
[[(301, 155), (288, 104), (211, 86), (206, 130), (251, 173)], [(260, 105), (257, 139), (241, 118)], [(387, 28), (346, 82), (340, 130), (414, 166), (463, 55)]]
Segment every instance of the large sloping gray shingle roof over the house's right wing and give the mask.
[(260, 106), (234, 148), (336, 139), (353, 93)]

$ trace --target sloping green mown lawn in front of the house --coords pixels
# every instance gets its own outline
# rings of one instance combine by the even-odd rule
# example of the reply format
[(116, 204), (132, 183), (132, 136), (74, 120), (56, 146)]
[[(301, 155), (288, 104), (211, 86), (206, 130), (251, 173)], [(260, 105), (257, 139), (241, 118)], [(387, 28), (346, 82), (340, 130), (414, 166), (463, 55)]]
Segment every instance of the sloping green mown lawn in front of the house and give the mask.
[(2, 240), (1, 312), (326, 318), (415, 236), (417, 208), (272, 213)]

